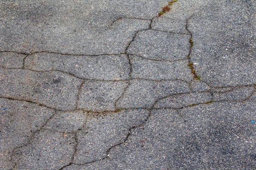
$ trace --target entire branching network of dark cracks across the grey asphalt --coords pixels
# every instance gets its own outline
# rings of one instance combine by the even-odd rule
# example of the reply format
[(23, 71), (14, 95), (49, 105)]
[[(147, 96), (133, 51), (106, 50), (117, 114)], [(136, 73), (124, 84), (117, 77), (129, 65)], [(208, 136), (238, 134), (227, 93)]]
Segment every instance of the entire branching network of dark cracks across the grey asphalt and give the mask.
[[(172, 2), (176, 2), (175, 1), (172, 1)], [(172, 3), (171, 2), (171, 3)], [(170, 4), (171, 5), (171, 4)], [(162, 15), (162, 14), (161, 14)], [(189, 107), (195, 107), (196, 105), (208, 105), (208, 104), (211, 104), (211, 103), (215, 103), (215, 102), (246, 102), (248, 99), (250, 99), (251, 96), (253, 96), (255, 93), (256, 93), (256, 84), (251, 84), (251, 85), (238, 85), (238, 86), (227, 86), (227, 87), (212, 87), (212, 85), (209, 85), (207, 82), (204, 82), (200, 79), (200, 77), (196, 74), (196, 71), (195, 71), (195, 68), (193, 66), (193, 63), (191, 62), (191, 52), (192, 52), (192, 46), (193, 46), (193, 35), (192, 35), (192, 32), (189, 30), (188, 28), (188, 24), (189, 24), (189, 20), (193, 17), (193, 15), (191, 15), (187, 20), (186, 20), (186, 31), (188, 32), (187, 33), (175, 33), (175, 32), (169, 32), (169, 31), (161, 31), (161, 32), (166, 32), (166, 33), (172, 33), (172, 34), (186, 34), (186, 35), (190, 35), (190, 38), (189, 38), (189, 44), (190, 44), (190, 47), (189, 47), (189, 54), (187, 56), (186, 59), (178, 59), (178, 60), (168, 60), (168, 59), (161, 59), (161, 60), (158, 60), (158, 59), (148, 59), (148, 58), (145, 58), (145, 57), (142, 57), (140, 55), (136, 55), (136, 54), (129, 54), (128, 53), (128, 48), (131, 46), (131, 43), (134, 42), (135, 38), (137, 37), (137, 34), (140, 32), (140, 31), (147, 31), (147, 30), (154, 30), (154, 31), (160, 31), (160, 30), (155, 30), (155, 29), (152, 29), (152, 22), (154, 20), (154, 18), (156, 18), (158, 16), (155, 16), (153, 17), (152, 19), (141, 19), (141, 18), (130, 18), (130, 17), (121, 17), (121, 18), (117, 18), (116, 20), (114, 20), (111, 24), (110, 24), (110, 27), (113, 26), (114, 23), (116, 23), (118, 20), (121, 20), (122, 18), (128, 18), (128, 19), (136, 19), (136, 20), (150, 20), (150, 24), (148, 26), (148, 28), (146, 29), (141, 29), (141, 30), (137, 30), (135, 31), (134, 33), (134, 36), (131, 38), (131, 41), (128, 43), (126, 49), (125, 49), (125, 52), (124, 53), (119, 53), (119, 54), (99, 54), (99, 55), (86, 55), (86, 54), (64, 54), (64, 53), (58, 53), (58, 52), (52, 52), (52, 51), (38, 51), (38, 52), (32, 52), (32, 53), (23, 53), (23, 52), (17, 52), (17, 51), (0, 51), (0, 52), (13, 52), (13, 53), (17, 53), (17, 54), (23, 54), (23, 55), (26, 55), (26, 57), (23, 58), (23, 65), (22, 65), (22, 68), (5, 68), (4, 66), (0, 66), (1, 68), (5, 68), (5, 69), (24, 69), (24, 70), (29, 70), (29, 71), (35, 71), (33, 69), (28, 69), (28, 68), (24, 68), (25, 67), (25, 62), (26, 62), (26, 58), (32, 54), (37, 54), (37, 53), (52, 53), (52, 54), (61, 54), (61, 55), (70, 55), (70, 56), (87, 56), (87, 57), (97, 57), (97, 56), (102, 56), (102, 55), (106, 55), (106, 56), (113, 56), (113, 55), (121, 55), (121, 54), (124, 54), (127, 58), (128, 58), (128, 64), (129, 64), (129, 78), (128, 79), (122, 79), (122, 80), (104, 80), (104, 79), (84, 79), (82, 77), (79, 77), (79, 76), (76, 76), (75, 74), (71, 74), (69, 72), (66, 72), (66, 71), (60, 71), (60, 70), (54, 70), (52, 69), (51, 71), (35, 71), (35, 72), (52, 72), (52, 71), (59, 71), (61, 73), (64, 73), (64, 74), (68, 74), (70, 76), (73, 76), (73, 77), (76, 77), (78, 79), (81, 79), (82, 82), (78, 88), (78, 92), (76, 94), (76, 106), (74, 110), (61, 110), (61, 109), (56, 109), (56, 108), (51, 108), (47, 105), (42, 105), (41, 103), (37, 103), (37, 102), (33, 102), (33, 101), (30, 101), (30, 100), (25, 100), (25, 99), (15, 99), (15, 98), (12, 98), (12, 97), (6, 97), (6, 96), (0, 96), (0, 98), (3, 98), (3, 99), (10, 99), (10, 100), (18, 100), (18, 101), (26, 101), (26, 102), (30, 102), (30, 103), (34, 103), (34, 104), (38, 104), (39, 106), (43, 106), (45, 108), (49, 108), (49, 109), (52, 109), (54, 110), (54, 113), (50, 116), (49, 119), (46, 119), (45, 123), (38, 129), (36, 130), (29, 138), (29, 142), (26, 143), (26, 144), (23, 144), (22, 146), (19, 146), (19, 147), (15, 147), (13, 150), (12, 150), (12, 155), (11, 155), (11, 161), (14, 163), (14, 167), (12, 169), (14, 169), (17, 165), (17, 163), (15, 161), (13, 161), (13, 156), (16, 154), (15, 153), (15, 150), (17, 150), (18, 148), (21, 148), (21, 147), (25, 147), (27, 146), (28, 144), (31, 144), (32, 141), (33, 141), (33, 138), (35, 136), (36, 133), (39, 133), (42, 129), (44, 129), (44, 126), (47, 124), (47, 122), (49, 122), (49, 120), (52, 119), (52, 117), (55, 116), (55, 114), (57, 113), (57, 111), (62, 111), (62, 112), (70, 112), (70, 111), (84, 111), (84, 112), (87, 112), (87, 114), (92, 114), (94, 116), (99, 116), (97, 114), (111, 114), (111, 113), (116, 113), (118, 111), (120, 111), (120, 109), (122, 108), (117, 108), (117, 102), (122, 99), (125, 95), (125, 92), (127, 91), (127, 89), (129, 88), (130, 86), (130, 82), (131, 80), (147, 80), (147, 81), (155, 81), (155, 82), (162, 82), (162, 81), (182, 81), (182, 82), (186, 82), (188, 85), (189, 85), (189, 88), (191, 90), (191, 92), (187, 92), (187, 93), (177, 93), (177, 94), (172, 94), (172, 95), (168, 95), (168, 96), (163, 96), (163, 97), (160, 97), (160, 98), (157, 98), (155, 99), (154, 103), (151, 105), (150, 108), (143, 108), (143, 107), (140, 107), (140, 108), (126, 108), (126, 109), (123, 109), (123, 110), (131, 110), (131, 109), (145, 109), (145, 110), (148, 110), (148, 116), (143, 120), (143, 122), (140, 124), (140, 125), (134, 125), (134, 126), (131, 126), (128, 128), (128, 133), (126, 134), (125, 136), (125, 139), (118, 143), (118, 144), (114, 144), (113, 146), (109, 147), (108, 150), (106, 151), (105, 153), (105, 156), (104, 158), (102, 159), (97, 159), (97, 160), (94, 160), (94, 161), (90, 161), (90, 162), (87, 162), (85, 164), (90, 164), (90, 163), (93, 163), (93, 162), (96, 162), (96, 161), (102, 161), (104, 159), (108, 159), (109, 158), (109, 153), (110, 151), (116, 147), (116, 146), (119, 146), (121, 144), (124, 144), (125, 142), (128, 141), (129, 137), (131, 136), (131, 134), (133, 133), (133, 130), (135, 128), (138, 128), (138, 127), (142, 127), (147, 121), (148, 119), (150, 118), (151, 116), (151, 111), (153, 110), (161, 110), (161, 109), (166, 109), (168, 107), (164, 107), (164, 108), (154, 108), (155, 105), (157, 104), (157, 102), (159, 102), (161, 99), (166, 99), (170, 96), (177, 96), (177, 95), (183, 95), (183, 94), (195, 94), (195, 93), (198, 93), (198, 94), (201, 94), (201, 93), (204, 93), (204, 92), (209, 92), (210, 95), (211, 95), (211, 100), (207, 101), (207, 102), (198, 102), (197, 104), (193, 104), (193, 105), (187, 105), (187, 106), (184, 106), (184, 107), (180, 107), (180, 108), (171, 108), (169, 107), (169, 109), (172, 109), (172, 110), (175, 110), (177, 111), (177, 113), (180, 114), (180, 109), (183, 109), (183, 108), (189, 108)], [(133, 72), (133, 65), (131, 63), (131, 58), (130, 56), (138, 56), (138, 57), (141, 57), (143, 59), (148, 59), (148, 60), (152, 60), (152, 61), (168, 61), (168, 62), (175, 62), (175, 61), (183, 61), (183, 60), (188, 60), (188, 66), (189, 68), (191, 69), (191, 72), (192, 74), (194, 75), (194, 80), (199, 80), (201, 82), (204, 82), (205, 84), (207, 84), (209, 86), (209, 90), (205, 90), (205, 91), (200, 91), (200, 92), (193, 92), (192, 91), (192, 87), (191, 87), (191, 83), (193, 80), (191, 80), (190, 82), (188, 81), (185, 81), (185, 80), (180, 80), (180, 79), (162, 79), (162, 80), (154, 80), (154, 79), (134, 79), (134, 78), (131, 78), (132, 77), (132, 72)], [(78, 109), (78, 103), (79, 103), (79, 97), (80, 97), (80, 94), (81, 94), (81, 89), (84, 85), (84, 83), (86, 81), (89, 81), (89, 80), (93, 80), (93, 81), (99, 81), (99, 82), (126, 82), (128, 81), (127, 85), (125, 86), (124, 90), (122, 91), (122, 94), (114, 101), (114, 107), (115, 107), (115, 111), (92, 111), (89, 109)], [(254, 90), (250, 92), (250, 94), (245, 98), (243, 99), (243, 101), (241, 100), (224, 100), (222, 99), (221, 101), (216, 101), (214, 100), (214, 94), (226, 94), (227, 92), (232, 92), (233, 90), (235, 89), (239, 89), (239, 88), (244, 88), (244, 87), (253, 87)], [(213, 90), (218, 90), (218, 89), (224, 89), (224, 88), (230, 88), (224, 92), (220, 91), (220, 92), (212, 92)], [(249, 91), (249, 90), (248, 90)], [(85, 125), (86, 125), (86, 122), (87, 121), (84, 121), (84, 124), (82, 126), (81, 129), (84, 129)], [(47, 129), (47, 130), (51, 130), (51, 129)], [(55, 130), (52, 130), (52, 131), (55, 131)], [(69, 164), (61, 167), (59, 170), (63, 170), (65, 167), (68, 167), (72, 164), (76, 164), (74, 163), (74, 158), (75, 158), (75, 155), (77, 153), (77, 146), (79, 144), (79, 141), (78, 141), (78, 137), (77, 137), (77, 132), (79, 130), (76, 130), (74, 132), (72, 132), (71, 134), (74, 134), (75, 135), (75, 141), (76, 141), (76, 144), (74, 146), (74, 152), (73, 152), (73, 155), (71, 157), (71, 161)], [(55, 131), (55, 132), (58, 132), (58, 131)], [(62, 132), (58, 132), (58, 133), (62, 133)], [(76, 164), (76, 165), (84, 165), (84, 164)]]

